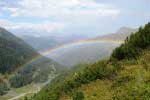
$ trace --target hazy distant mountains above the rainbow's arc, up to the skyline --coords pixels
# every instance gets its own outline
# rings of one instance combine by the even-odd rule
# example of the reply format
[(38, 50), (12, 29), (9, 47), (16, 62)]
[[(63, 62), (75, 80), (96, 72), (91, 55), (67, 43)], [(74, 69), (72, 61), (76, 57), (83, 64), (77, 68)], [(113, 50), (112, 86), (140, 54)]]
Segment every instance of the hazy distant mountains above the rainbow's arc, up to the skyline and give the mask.
[(132, 32), (136, 32), (137, 29), (129, 27), (121, 27), (117, 32), (109, 33), (103, 36), (97, 37), (85, 37), (82, 35), (70, 35), (70, 36), (34, 36), (34, 35), (20, 35), (25, 42), (35, 48), (37, 51), (42, 52), (56, 46), (67, 44), (70, 42), (75, 42), (78, 40), (115, 40), (122, 41), (125, 40)]

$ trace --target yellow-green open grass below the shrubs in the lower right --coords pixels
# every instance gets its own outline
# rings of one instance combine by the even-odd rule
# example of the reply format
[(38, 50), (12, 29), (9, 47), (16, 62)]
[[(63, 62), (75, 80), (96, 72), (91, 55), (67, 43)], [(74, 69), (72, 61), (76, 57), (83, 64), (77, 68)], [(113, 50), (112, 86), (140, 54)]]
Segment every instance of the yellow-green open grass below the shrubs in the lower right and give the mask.
[[(122, 69), (115, 79), (96, 80), (82, 85), (78, 90), (85, 100), (149, 100), (150, 99), (150, 51), (146, 51), (137, 61), (121, 61)], [(134, 96), (134, 98), (132, 98)], [(118, 98), (118, 99), (117, 99)], [(72, 100), (62, 95), (60, 100)]]

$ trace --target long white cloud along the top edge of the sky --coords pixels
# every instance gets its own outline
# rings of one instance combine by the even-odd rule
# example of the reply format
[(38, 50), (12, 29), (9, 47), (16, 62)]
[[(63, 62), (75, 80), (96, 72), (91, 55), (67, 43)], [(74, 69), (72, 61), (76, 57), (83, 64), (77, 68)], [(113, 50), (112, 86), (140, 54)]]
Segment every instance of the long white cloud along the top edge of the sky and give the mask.
[(21, 0), (18, 7), (11, 10), (12, 16), (67, 17), (83, 15), (113, 16), (119, 10), (109, 4), (94, 0)]

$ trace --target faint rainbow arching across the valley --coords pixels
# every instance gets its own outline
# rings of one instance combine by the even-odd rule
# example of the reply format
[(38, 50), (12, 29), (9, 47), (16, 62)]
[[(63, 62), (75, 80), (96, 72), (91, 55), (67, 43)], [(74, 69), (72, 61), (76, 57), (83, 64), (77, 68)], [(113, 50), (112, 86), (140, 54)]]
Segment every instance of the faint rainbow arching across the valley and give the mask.
[(54, 48), (50, 48), (47, 51), (41, 52), (41, 55), (33, 57), (32, 60), (30, 60), (27, 63), (25, 63), (23, 66), (29, 65), (29, 64), (39, 60), (43, 56), (46, 56), (46, 55), (50, 54), (51, 52), (53, 52), (53, 51), (55, 51), (57, 49), (61, 49), (61, 48), (67, 49), (67, 48), (69, 48), (72, 45), (81, 45), (81, 44), (86, 44), (86, 43), (88, 43), (88, 44), (89, 43), (115, 43), (115, 44), (121, 44), (121, 43), (123, 43), (123, 41), (114, 41), (114, 40), (78, 40), (78, 41), (62, 44), (62, 45), (56, 46)]

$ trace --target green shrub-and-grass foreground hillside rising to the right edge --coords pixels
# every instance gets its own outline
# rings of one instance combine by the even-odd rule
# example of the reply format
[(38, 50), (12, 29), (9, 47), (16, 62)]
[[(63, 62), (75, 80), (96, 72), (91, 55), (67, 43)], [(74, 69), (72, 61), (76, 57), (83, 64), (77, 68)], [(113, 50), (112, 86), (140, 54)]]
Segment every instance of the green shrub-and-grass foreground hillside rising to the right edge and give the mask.
[(150, 23), (128, 37), (109, 60), (61, 74), (32, 100), (149, 100), (149, 48)]

